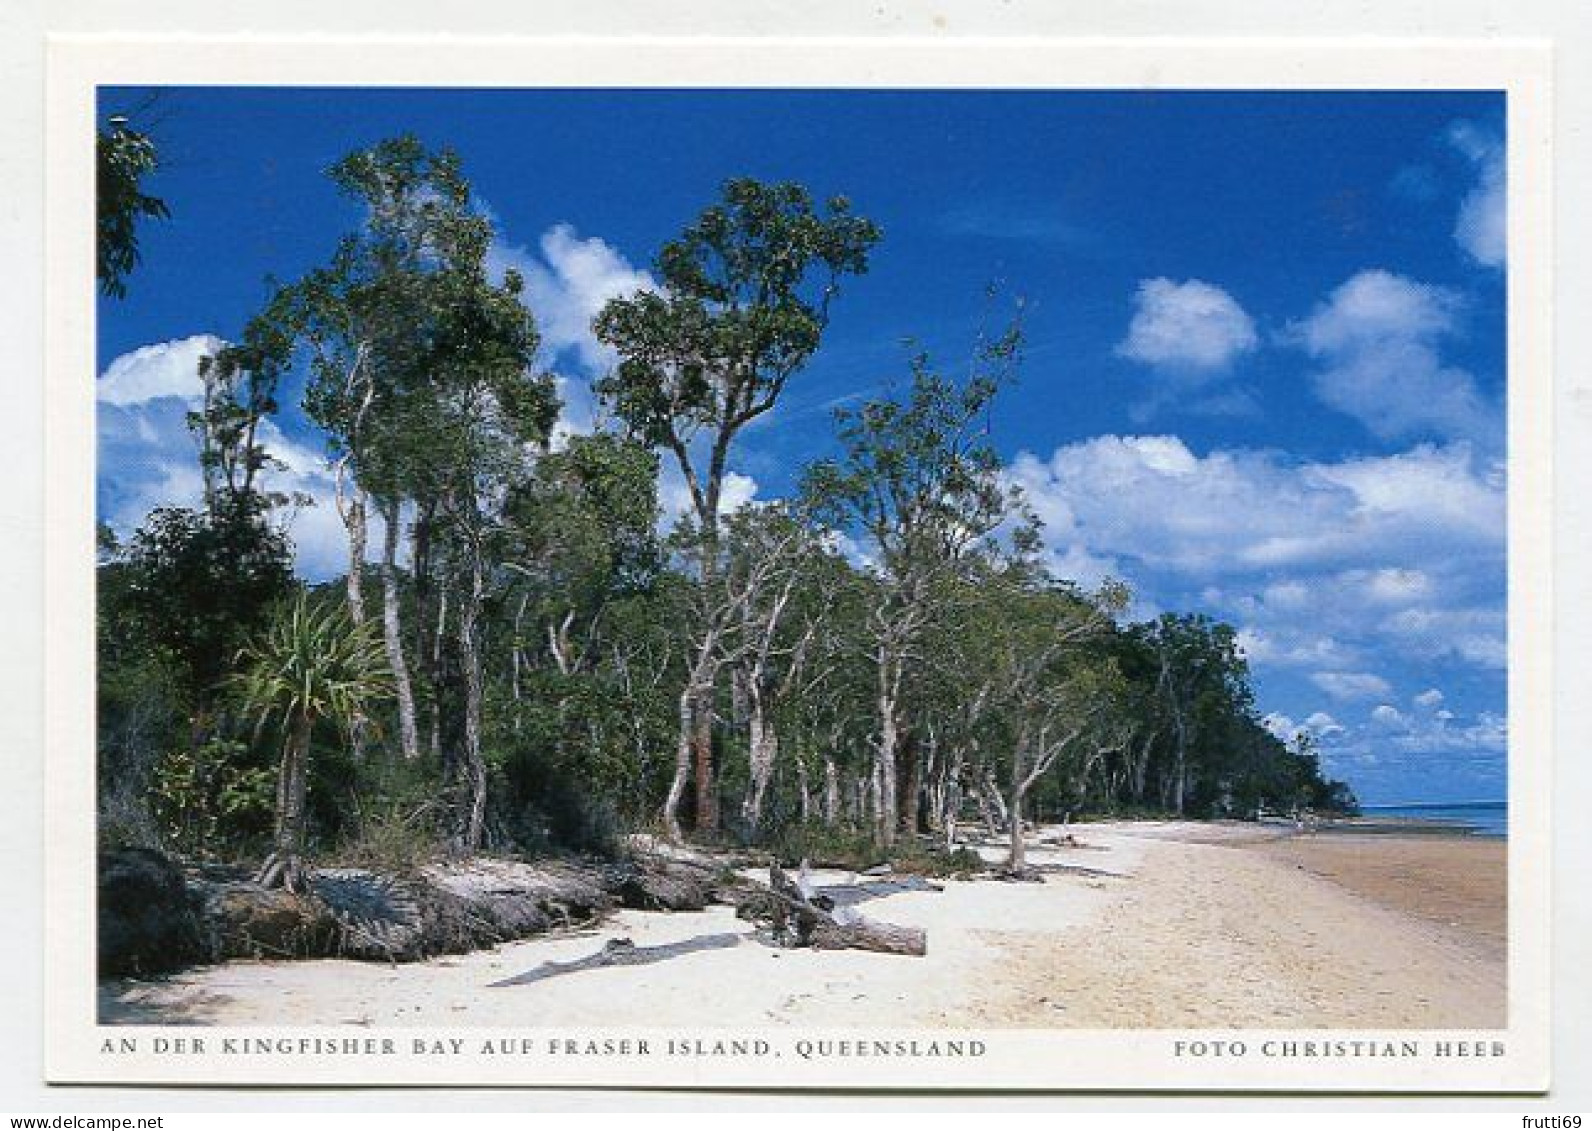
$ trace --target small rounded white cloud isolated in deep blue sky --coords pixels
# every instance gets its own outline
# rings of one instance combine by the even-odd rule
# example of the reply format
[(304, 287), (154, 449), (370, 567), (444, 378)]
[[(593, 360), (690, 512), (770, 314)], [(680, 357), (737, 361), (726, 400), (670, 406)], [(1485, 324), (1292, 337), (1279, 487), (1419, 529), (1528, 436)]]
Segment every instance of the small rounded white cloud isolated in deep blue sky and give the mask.
[(1199, 279), (1145, 279), (1116, 352), (1188, 378), (1219, 373), (1259, 341), (1254, 320), (1221, 287)]

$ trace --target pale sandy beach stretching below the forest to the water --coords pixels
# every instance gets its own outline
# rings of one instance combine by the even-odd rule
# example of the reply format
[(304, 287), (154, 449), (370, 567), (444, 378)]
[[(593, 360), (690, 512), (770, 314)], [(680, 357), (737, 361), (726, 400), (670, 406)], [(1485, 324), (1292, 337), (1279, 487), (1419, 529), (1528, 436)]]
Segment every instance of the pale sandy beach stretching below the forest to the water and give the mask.
[[(384, 967), (231, 962), (108, 981), (105, 1023), (355, 1026), (1496, 1027), (1503, 846), (1278, 839), (1250, 825), (1121, 824), (1038, 843), (1044, 882), (946, 881), (872, 900), (922, 959), (764, 946), (729, 908)], [(1041, 833), (1041, 838), (1044, 835)], [(1364, 844), (1360, 841), (1374, 841)], [(990, 852), (995, 849), (990, 847)], [(853, 879), (820, 875), (820, 882)], [(494, 986), (627, 937), (713, 949)]]

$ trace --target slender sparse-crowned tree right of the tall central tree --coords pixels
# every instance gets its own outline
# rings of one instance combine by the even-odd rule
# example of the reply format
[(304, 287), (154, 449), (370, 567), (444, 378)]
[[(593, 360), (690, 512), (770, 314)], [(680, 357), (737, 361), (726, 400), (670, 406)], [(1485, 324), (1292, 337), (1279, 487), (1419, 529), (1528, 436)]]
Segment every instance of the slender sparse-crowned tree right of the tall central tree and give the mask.
[[(912, 358), (911, 389), (837, 413), (842, 456), (809, 468), (804, 491), (839, 530), (858, 532), (880, 594), (868, 616), (874, 659), (876, 832), (895, 839), (901, 820), (898, 758), (907, 680), (923, 661), (923, 636), (942, 613), (947, 583), (1020, 503), (1001, 481), (987, 421), (1019, 355), (1013, 325), (976, 352), (962, 384)], [(912, 776), (911, 773), (907, 774)]]

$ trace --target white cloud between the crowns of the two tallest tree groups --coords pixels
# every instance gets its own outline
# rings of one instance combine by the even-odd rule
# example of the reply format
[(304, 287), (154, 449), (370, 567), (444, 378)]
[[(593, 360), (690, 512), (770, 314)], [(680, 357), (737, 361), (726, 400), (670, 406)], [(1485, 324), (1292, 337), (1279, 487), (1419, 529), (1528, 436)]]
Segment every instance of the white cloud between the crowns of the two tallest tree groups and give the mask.
[(548, 363), (570, 354), (589, 373), (616, 362), (592, 335), (592, 319), (610, 299), (657, 285), (611, 244), (595, 236), (583, 239), (570, 225), (544, 231), (535, 252), (495, 244), (487, 261), (495, 272), (511, 268), (524, 276), (525, 306), (537, 317)]

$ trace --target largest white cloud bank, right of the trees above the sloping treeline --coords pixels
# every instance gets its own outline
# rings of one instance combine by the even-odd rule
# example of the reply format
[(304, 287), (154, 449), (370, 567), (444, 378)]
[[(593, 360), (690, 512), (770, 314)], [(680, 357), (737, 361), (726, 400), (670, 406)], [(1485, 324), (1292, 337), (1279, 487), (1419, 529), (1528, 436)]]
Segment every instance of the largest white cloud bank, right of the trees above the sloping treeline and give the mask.
[(1504, 483), (1466, 444), (1293, 460), (1095, 436), (1008, 475), (1060, 573), (1197, 602), (1240, 628), (1251, 663), (1342, 674), (1383, 655), (1503, 655)]

